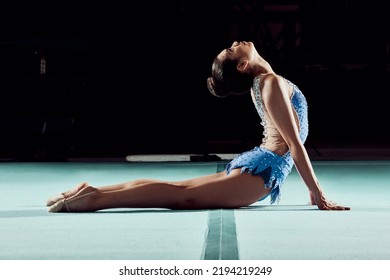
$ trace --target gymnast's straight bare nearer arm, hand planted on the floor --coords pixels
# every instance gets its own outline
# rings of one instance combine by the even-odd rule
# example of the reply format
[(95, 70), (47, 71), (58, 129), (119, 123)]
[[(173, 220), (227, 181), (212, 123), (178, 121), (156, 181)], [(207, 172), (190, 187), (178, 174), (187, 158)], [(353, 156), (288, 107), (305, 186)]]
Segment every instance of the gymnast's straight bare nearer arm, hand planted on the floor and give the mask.
[(309, 189), (312, 203), (314, 202), (321, 210), (349, 210), (349, 207), (335, 205), (325, 197), (307, 151), (300, 140), (286, 81), (275, 74), (268, 74), (262, 79), (261, 87), (264, 106), (289, 147), (295, 167)]

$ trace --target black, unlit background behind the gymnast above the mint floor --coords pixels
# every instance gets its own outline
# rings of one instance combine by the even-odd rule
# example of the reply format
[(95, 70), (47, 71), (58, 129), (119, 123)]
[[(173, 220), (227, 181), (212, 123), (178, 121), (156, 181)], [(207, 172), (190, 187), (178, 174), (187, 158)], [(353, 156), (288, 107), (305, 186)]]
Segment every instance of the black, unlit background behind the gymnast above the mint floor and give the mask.
[(253, 41), (306, 95), (307, 146), (390, 148), (384, 2), (156, 3), (9, 10), (0, 33), (0, 160), (258, 145), (251, 99), (218, 99), (206, 88), (213, 58), (234, 40)]

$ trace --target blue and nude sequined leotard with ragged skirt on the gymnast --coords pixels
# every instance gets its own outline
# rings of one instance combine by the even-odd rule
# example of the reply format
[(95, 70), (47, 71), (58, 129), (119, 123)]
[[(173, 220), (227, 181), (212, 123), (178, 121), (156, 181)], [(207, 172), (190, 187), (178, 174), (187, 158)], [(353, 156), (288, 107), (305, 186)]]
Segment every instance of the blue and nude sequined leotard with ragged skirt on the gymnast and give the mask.
[[(304, 143), (309, 131), (307, 101), (295, 84), (287, 79), (285, 80), (293, 87), (291, 105), (294, 108), (299, 124), (300, 139)], [(261, 118), (261, 125), (264, 128), (262, 143), (260, 146), (256, 146), (252, 150), (236, 156), (226, 166), (226, 172), (229, 174), (233, 169), (241, 168), (241, 173), (245, 172), (261, 176), (264, 179), (265, 187), (271, 188), (270, 202), (272, 204), (279, 202), (280, 188), (287, 175), (291, 172), (294, 162), (290, 151), (286, 149), (286, 143), (274, 126), (264, 106), (260, 92), (260, 76), (253, 81), (252, 100)], [(277, 151), (283, 149), (286, 150), (283, 154), (277, 153)]]

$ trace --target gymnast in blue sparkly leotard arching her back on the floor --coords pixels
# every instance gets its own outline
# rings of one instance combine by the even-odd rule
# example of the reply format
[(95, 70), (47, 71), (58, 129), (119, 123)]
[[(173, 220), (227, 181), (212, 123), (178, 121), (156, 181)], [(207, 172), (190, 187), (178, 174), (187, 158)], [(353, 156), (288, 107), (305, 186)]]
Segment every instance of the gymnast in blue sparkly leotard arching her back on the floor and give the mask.
[[(49, 212), (95, 212), (109, 208), (235, 209), (269, 199), (279, 203), (293, 166), (311, 205), (350, 210), (326, 197), (304, 143), (307, 101), (290, 80), (274, 72), (252, 42), (233, 42), (214, 59), (207, 88), (217, 97), (247, 94), (263, 126), (261, 143), (233, 158), (226, 169), (181, 181), (137, 179), (93, 187), (82, 182), (49, 198)], [(234, 97), (231, 97), (234, 98)]]

